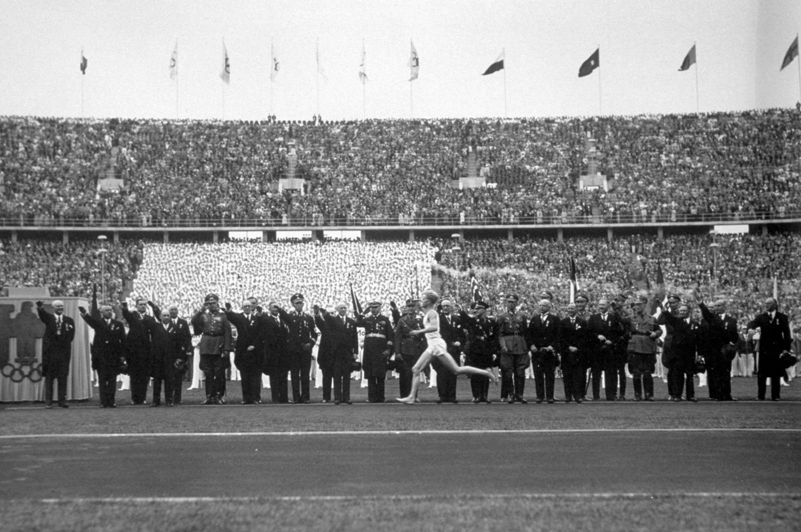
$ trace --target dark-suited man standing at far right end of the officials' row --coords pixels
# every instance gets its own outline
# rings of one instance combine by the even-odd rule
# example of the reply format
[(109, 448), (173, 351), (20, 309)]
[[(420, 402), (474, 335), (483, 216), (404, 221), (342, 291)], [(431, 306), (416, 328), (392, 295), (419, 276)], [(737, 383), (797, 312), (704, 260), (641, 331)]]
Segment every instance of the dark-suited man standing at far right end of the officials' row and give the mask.
[(781, 399), (779, 390), (787, 373), (779, 362), (783, 352), (790, 351), (790, 321), (787, 314), (779, 312), (779, 303), (774, 298), (765, 300), (765, 312), (748, 322), (749, 334), (759, 329), (759, 366), (757, 366), (757, 399), (765, 400), (767, 378), (771, 378), (771, 399)]

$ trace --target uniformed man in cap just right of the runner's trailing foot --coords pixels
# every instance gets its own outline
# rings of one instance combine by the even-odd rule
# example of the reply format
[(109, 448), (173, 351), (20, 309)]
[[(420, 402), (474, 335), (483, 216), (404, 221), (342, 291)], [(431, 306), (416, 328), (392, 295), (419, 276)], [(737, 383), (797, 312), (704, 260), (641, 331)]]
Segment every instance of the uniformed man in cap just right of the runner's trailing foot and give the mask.
[(506, 312), (497, 317), (495, 335), (501, 347), (501, 385), (509, 393), (507, 402), (525, 404), (525, 370), (529, 363), (529, 346), (525, 342), (525, 331), (529, 327), (525, 314), (517, 310), (520, 297), (517, 294), (506, 296)]

